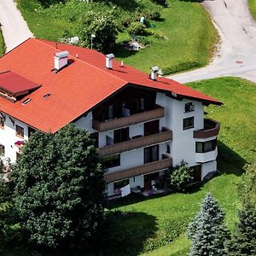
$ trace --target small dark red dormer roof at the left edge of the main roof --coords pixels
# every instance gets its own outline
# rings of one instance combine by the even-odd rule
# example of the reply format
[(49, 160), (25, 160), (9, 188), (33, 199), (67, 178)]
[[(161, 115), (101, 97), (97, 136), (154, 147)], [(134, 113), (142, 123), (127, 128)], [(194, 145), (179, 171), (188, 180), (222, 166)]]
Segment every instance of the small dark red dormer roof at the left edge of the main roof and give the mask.
[(0, 73), (0, 89), (8, 91), (14, 96), (24, 95), (30, 90), (37, 89), (39, 86), (13, 72)]

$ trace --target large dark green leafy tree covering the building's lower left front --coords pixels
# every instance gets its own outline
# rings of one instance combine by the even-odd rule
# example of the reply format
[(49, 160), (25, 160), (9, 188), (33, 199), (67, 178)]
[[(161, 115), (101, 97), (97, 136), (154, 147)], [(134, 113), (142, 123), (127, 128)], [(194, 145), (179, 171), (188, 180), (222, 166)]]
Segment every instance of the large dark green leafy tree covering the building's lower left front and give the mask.
[(88, 133), (74, 125), (35, 132), (13, 180), (21, 227), (38, 246), (81, 247), (102, 224), (103, 172)]

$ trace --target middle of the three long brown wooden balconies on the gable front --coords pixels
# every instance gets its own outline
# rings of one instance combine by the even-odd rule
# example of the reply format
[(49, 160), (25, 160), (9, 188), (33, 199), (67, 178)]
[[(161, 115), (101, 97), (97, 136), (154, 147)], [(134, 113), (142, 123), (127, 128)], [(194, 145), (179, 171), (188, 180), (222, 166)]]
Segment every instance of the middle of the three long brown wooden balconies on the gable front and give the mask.
[(100, 156), (106, 156), (110, 154), (117, 154), (124, 151), (128, 151), (135, 148), (143, 148), (146, 146), (164, 143), (172, 140), (172, 131), (167, 130), (166, 128), (159, 133), (155, 133), (148, 136), (142, 137), (133, 137), (129, 141), (125, 141), (122, 143), (116, 143), (113, 145), (105, 146), (99, 148)]

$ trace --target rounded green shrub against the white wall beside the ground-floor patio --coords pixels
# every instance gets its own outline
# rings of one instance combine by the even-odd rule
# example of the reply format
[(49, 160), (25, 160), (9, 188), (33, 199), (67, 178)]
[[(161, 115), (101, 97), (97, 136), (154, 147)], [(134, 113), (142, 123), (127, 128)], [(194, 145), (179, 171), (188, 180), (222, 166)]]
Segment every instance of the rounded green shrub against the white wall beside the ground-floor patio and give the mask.
[(183, 190), (184, 186), (193, 180), (192, 169), (188, 164), (181, 161), (179, 166), (175, 166), (170, 175), (170, 183), (174, 189)]

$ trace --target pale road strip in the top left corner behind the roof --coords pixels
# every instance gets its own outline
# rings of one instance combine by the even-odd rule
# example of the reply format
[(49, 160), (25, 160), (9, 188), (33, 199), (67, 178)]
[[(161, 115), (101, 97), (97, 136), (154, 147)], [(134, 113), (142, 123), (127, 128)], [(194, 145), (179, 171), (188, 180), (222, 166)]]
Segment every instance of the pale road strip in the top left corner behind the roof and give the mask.
[(6, 52), (32, 37), (32, 32), (26, 26), (26, 21), (13, 0), (0, 0), (0, 22)]

